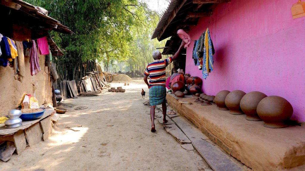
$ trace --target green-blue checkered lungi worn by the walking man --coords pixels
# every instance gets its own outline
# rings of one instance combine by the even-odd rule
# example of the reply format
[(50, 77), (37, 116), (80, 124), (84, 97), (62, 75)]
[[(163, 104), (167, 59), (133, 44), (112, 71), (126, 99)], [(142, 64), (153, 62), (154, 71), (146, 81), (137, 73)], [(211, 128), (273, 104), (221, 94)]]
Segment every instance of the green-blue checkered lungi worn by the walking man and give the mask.
[(162, 85), (154, 85), (149, 88), (149, 104), (156, 106), (165, 101), (166, 89)]

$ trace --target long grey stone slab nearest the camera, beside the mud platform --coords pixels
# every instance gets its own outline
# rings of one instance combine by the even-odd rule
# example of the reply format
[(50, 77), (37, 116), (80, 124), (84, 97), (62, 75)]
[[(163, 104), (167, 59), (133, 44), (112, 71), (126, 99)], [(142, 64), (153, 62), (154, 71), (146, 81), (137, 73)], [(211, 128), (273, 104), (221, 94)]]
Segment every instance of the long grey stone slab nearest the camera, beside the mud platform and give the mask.
[(192, 144), (214, 171), (244, 171), (216, 146), (205, 140), (192, 141)]

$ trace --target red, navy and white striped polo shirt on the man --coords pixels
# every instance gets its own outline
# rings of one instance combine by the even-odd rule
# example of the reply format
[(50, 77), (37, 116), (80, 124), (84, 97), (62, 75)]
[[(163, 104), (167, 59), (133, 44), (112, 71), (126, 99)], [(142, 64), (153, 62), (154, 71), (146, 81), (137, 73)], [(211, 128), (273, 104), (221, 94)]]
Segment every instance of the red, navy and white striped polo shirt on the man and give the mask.
[(149, 88), (154, 85), (163, 85), (165, 87), (165, 68), (173, 59), (166, 58), (163, 61), (155, 60), (146, 67), (144, 75), (149, 76)]

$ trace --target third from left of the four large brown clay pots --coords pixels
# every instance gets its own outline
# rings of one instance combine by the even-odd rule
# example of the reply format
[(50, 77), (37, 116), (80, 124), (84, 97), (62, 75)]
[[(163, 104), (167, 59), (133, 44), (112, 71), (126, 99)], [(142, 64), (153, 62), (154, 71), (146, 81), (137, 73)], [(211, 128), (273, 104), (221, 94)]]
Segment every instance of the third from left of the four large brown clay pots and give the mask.
[(249, 92), (240, 100), (240, 108), (247, 115), (246, 120), (260, 121), (260, 117), (258, 117), (256, 108), (260, 100), (267, 97), (262, 92)]

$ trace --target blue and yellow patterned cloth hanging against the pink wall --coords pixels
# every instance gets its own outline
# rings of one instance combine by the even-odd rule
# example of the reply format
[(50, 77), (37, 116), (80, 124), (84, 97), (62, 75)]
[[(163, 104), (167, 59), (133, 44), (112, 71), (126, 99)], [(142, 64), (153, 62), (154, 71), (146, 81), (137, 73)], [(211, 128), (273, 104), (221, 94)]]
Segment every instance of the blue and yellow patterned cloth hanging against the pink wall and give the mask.
[(213, 71), (213, 44), (210, 36), (209, 28), (206, 29), (204, 35), (204, 48), (203, 48), (203, 68), (202, 77), (206, 79), (209, 76), (209, 72)]

